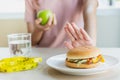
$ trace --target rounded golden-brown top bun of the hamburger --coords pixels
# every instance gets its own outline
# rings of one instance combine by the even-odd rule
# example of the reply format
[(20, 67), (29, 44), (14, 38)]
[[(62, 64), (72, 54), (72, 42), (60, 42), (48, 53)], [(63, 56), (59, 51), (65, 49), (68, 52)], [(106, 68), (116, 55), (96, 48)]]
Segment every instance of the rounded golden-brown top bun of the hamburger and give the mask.
[(85, 59), (96, 57), (101, 54), (101, 51), (93, 46), (84, 46), (73, 48), (68, 51), (67, 58), (69, 59)]

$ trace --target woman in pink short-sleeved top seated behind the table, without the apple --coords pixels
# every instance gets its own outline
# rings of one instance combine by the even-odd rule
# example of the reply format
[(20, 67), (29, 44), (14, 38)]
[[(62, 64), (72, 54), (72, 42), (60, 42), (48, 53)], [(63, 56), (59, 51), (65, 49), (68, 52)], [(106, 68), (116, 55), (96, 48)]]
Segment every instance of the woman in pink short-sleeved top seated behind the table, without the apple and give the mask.
[[(25, 2), (25, 19), (28, 32), (32, 33), (34, 46), (63, 47), (65, 44), (71, 49), (96, 45), (97, 0), (25, 0)], [(39, 25), (42, 19), (37, 19), (36, 14), (44, 9), (54, 12), (54, 20), (50, 17), (48, 23), (42, 26)]]

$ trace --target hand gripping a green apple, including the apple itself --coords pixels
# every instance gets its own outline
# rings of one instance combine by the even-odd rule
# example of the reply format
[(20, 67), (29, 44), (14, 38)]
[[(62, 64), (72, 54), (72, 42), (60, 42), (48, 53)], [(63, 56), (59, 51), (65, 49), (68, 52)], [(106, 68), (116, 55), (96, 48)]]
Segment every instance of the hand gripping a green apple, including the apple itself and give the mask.
[(41, 10), (37, 13), (35, 24), (40, 30), (48, 30), (57, 24), (56, 16), (50, 10)]

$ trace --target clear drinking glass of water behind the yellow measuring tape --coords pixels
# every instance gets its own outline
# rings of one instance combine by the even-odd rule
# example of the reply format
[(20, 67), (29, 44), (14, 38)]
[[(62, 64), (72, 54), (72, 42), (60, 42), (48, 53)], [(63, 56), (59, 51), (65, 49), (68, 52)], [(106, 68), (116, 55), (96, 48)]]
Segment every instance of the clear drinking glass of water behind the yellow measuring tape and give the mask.
[(31, 51), (31, 34), (10, 34), (8, 35), (8, 44), (12, 56), (28, 56)]

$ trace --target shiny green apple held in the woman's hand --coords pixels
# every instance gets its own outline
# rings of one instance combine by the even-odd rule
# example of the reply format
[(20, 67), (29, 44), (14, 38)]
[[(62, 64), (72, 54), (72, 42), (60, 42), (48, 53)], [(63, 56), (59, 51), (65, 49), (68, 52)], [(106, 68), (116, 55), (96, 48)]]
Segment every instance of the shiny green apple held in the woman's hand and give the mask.
[(52, 11), (50, 10), (41, 10), (37, 13), (37, 18), (42, 19), (42, 22), (40, 23), (41, 25), (47, 24), (50, 16), (53, 16)]

